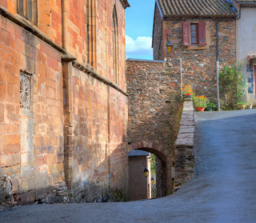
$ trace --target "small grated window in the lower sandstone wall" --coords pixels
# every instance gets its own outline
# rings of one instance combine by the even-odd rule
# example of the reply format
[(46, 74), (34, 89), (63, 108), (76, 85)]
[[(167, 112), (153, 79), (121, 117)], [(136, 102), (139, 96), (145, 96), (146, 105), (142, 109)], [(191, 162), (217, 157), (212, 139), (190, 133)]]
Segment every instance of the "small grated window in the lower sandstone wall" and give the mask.
[(19, 76), (19, 83), (20, 107), (29, 111), (31, 109), (31, 74), (27, 74), (21, 71)]

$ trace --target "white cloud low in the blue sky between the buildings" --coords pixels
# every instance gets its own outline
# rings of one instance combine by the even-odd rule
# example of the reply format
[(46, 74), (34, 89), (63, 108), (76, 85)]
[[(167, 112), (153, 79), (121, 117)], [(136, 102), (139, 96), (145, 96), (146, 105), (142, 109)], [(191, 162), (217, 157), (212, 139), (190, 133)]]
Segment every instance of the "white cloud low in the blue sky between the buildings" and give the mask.
[(152, 57), (153, 48), (152, 38), (149, 36), (138, 36), (137, 39), (132, 39), (132, 37), (127, 37), (127, 57), (130, 56), (142, 56), (142, 57)]

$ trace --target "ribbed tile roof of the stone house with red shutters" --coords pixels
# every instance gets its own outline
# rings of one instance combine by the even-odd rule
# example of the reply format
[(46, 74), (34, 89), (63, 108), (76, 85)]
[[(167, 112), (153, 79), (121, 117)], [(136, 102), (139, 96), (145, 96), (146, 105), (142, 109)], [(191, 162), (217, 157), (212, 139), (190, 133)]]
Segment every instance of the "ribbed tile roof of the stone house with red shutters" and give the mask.
[(156, 0), (162, 16), (167, 17), (235, 17), (226, 0)]

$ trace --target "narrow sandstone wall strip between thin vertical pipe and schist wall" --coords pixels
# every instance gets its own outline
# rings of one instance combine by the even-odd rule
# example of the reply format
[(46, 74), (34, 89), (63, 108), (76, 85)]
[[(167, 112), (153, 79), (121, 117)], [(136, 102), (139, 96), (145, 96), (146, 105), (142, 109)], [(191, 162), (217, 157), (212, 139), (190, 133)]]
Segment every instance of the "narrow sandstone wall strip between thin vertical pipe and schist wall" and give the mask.
[(125, 195), (128, 189), (128, 100), (113, 88), (110, 88), (109, 99), (111, 187), (113, 190), (121, 190)]

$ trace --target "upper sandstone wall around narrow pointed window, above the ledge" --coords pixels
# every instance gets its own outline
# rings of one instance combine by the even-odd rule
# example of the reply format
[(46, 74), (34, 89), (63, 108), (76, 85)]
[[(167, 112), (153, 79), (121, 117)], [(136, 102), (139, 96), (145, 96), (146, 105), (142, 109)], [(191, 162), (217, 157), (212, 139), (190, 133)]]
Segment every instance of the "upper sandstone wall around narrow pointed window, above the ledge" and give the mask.
[(125, 11), (121, 1), (96, 1), (97, 72), (111, 81), (114, 80), (112, 49), (112, 12), (114, 4), (118, 14), (119, 60), (121, 61), (119, 63), (119, 85), (122, 89), (125, 89)]

